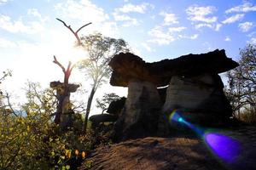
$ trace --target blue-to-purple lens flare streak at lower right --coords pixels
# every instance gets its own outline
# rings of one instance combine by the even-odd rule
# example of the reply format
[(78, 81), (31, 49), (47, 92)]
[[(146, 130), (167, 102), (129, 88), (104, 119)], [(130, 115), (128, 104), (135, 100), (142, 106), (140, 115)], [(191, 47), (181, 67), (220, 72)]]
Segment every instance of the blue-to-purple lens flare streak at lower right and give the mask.
[(169, 116), (169, 122), (182, 123), (192, 129), (222, 161), (234, 162), (241, 155), (241, 144), (236, 139), (187, 122), (176, 110)]

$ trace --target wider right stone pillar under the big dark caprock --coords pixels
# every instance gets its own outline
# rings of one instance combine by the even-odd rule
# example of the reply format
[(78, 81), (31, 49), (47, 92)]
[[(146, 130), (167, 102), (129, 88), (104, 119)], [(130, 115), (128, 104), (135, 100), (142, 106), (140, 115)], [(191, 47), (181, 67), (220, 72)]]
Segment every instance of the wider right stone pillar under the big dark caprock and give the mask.
[(232, 116), (229, 101), (223, 92), (224, 84), (218, 75), (172, 77), (166, 92), (163, 112), (181, 111), (189, 122), (200, 125), (219, 125)]

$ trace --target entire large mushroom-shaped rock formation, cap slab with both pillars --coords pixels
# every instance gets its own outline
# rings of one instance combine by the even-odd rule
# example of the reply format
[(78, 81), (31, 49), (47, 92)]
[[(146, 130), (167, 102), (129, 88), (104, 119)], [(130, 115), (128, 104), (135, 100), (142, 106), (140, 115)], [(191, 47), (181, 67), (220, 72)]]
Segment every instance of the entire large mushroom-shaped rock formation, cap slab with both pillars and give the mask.
[[(173, 110), (201, 125), (224, 123), (231, 116), (218, 73), (230, 71), (238, 64), (227, 58), (224, 50), (154, 63), (121, 53), (109, 65), (113, 69), (110, 84), (128, 87), (125, 107), (115, 128), (117, 136), (123, 139), (157, 131), (168, 133), (168, 116)], [(160, 88), (164, 86), (168, 88)]]

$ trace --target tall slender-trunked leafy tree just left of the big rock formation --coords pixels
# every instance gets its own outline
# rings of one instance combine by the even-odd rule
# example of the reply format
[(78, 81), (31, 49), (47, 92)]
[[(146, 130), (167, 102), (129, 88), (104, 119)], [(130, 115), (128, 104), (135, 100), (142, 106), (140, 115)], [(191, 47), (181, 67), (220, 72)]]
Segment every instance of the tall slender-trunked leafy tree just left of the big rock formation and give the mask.
[(85, 76), (92, 80), (84, 120), (84, 131), (86, 131), (90, 106), (96, 89), (106, 81), (111, 73), (108, 62), (115, 54), (128, 52), (129, 49), (123, 39), (103, 37), (100, 33), (81, 37), (80, 40), (81, 47), (88, 53), (88, 59), (84, 59), (79, 63), (79, 69), (84, 71)]

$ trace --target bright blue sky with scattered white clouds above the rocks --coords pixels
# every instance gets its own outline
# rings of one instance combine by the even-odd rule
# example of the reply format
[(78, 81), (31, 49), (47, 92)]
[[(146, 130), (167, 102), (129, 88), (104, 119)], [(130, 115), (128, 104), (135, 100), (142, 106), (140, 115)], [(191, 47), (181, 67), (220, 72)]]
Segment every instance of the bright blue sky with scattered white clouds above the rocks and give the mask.
[[(216, 48), (238, 59), (239, 48), (256, 43), (253, 0), (0, 0), (0, 71), (14, 74), (4, 88), (15, 93), (27, 79), (45, 87), (61, 80), (60, 69), (52, 63), (54, 54), (62, 63), (86, 57), (73, 48), (73, 35), (56, 17), (74, 29), (92, 22), (80, 33), (124, 38), (135, 54), (150, 62)], [(86, 88), (79, 71), (71, 78)]]

